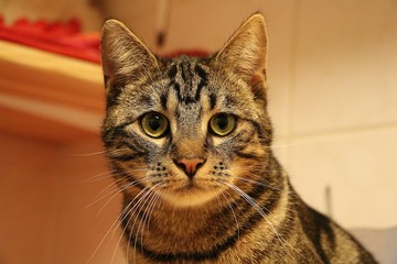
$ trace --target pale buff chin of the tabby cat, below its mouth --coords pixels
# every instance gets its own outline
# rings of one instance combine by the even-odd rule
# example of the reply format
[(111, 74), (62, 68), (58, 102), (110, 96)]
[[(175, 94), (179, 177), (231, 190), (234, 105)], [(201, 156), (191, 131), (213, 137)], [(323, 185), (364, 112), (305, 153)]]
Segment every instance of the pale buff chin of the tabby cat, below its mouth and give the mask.
[(197, 207), (207, 204), (219, 196), (219, 191), (190, 191), (190, 193), (167, 193), (162, 194), (164, 200), (175, 207)]

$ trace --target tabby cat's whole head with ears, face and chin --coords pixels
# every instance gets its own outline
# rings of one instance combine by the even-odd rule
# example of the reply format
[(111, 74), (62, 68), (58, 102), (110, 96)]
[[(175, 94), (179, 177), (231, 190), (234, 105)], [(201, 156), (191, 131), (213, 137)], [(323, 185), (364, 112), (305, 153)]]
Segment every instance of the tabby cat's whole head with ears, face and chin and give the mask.
[(258, 180), (270, 155), (267, 35), (254, 14), (216, 54), (159, 58), (121, 22), (101, 33), (103, 139), (125, 194), (200, 206)]

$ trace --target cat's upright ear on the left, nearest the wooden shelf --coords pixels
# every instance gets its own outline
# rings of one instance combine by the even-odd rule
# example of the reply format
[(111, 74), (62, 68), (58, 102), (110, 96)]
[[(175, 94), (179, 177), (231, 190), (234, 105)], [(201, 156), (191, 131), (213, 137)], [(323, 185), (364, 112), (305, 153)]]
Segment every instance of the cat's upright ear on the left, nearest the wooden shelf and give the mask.
[(157, 67), (155, 56), (117, 20), (107, 20), (100, 36), (100, 54), (106, 90), (122, 86), (126, 79), (138, 79)]

